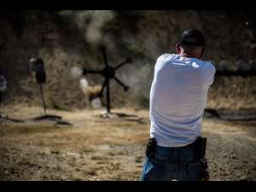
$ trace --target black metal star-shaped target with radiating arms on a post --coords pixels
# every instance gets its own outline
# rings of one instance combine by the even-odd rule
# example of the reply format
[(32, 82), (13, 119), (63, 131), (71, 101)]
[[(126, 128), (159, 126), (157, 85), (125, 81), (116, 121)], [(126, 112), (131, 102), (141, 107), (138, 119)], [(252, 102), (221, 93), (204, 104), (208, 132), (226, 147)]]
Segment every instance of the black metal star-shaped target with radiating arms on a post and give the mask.
[(104, 80), (104, 83), (102, 84), (102, 90), (100, 91), (100, 93), (97, 95), (99, 97), (103, 97), (103, 91), (106, 88), (106, 102), (107, 102), (107, 110), (108, 113), (110, 113), (110, 87), (109, 87), (109, 83), (111, 79), (114, 79), (119, 85), (121, 85), (125, 91), (129, 90), (129, 86), (126, 86), (124, 83), (122, 83), (116, 76), (116, 70), (118, 70), (119, 68), (125, 66), (125, 64), (127, 63), (131, 63), (131, 58), (127, 58), (125, 61), (121, 62), (119, 65), (117, 65), (116, 67), (111, 67), (108, 64), (108, 57), (106, 54), (106, 47), (101, 47), (100, 51), (102, 52), (102, 56), (103, 56), (103, 61), (105, 63), (105, 68), (103, 68), (102, 70), (99, 71), (95, 71), (95, 70), (89, 70), (89, 69), (83, 69), (83, 74), (87, 75), (87, 74), (102, 74)]

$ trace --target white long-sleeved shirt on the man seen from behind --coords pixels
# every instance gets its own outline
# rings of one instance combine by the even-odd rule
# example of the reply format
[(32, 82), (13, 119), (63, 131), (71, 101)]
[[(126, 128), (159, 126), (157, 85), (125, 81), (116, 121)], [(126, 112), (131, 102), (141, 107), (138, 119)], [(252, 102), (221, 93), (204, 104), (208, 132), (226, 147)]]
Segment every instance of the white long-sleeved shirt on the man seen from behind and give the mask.
[(161, 147), (183, 147), (201, 136), (207, 92), (216, 69), (210, 61), (161, 55), (150, 92), (150, 136)]

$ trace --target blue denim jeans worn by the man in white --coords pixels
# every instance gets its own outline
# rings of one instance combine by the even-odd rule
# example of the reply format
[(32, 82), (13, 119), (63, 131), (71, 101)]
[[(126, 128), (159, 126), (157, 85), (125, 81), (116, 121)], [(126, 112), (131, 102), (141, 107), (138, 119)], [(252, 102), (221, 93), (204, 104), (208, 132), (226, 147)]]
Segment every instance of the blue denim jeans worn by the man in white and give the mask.
[(146, 157), (142, 181), (200, 181), (201, 162), (194, 149), (156, 147), (154, 158)]

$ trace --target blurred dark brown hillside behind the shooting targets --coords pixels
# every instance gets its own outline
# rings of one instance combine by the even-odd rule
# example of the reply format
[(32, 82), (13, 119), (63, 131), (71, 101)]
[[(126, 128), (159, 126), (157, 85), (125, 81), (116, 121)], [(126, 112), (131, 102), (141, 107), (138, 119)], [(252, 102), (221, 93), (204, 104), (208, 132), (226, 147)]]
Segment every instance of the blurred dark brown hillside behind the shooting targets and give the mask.
[[(154, 62), (175, 51), (178, 35), (189, 27), (206, 34), (206, 60), (218, 70), (256, 70), (253, 22), (244, 12), (225, 11), (15, 11), (0, 12), (0, 71), (8, 79), (4, 104), (39, 104), (38, 86), (28, 73), (28, 61), (42, 57), (50, 108), (90, 108), (73, 66), (103, 67), (98, 47), (108, 48), (110, 65), (130, 56), (132, 63), (119, 69), (119, 79), (131, 86), (125, 93), (111, 83), (114, 107), (148, 105)], [(252, 15), (251, 15), (252, 16)], [(246, 21), (248, 21), (246, 25)], [(90, 87), (102, 84), (96, 75), (85, 77)], [(256, 108), (255, 78), (217, 78), (210, 91), (210, 108)]]

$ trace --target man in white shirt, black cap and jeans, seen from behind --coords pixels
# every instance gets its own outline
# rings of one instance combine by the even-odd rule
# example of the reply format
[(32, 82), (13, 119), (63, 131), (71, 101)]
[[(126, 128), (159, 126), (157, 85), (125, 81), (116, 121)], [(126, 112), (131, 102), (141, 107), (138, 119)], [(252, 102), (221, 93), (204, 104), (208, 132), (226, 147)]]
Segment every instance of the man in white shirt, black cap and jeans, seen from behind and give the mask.
[(189, 29), (177, 43), (177, 55), (161, 55), (155, 64), (143, 181), (208, 178), (202, 119), (216, 69), (202, 61), (204, 53), (203, 34)]

